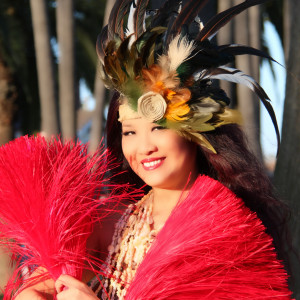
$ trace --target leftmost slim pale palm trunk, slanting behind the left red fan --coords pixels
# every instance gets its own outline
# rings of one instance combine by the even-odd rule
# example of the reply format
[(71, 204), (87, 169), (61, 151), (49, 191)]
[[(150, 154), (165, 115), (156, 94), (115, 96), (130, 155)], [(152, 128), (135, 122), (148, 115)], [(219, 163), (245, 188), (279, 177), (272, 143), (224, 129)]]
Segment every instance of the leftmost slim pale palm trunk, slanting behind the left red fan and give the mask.
[(58, 134), (58, 117), (46, 5), (45, 0), (30, 0), (41, 103), (41, 131), (51, 136)]

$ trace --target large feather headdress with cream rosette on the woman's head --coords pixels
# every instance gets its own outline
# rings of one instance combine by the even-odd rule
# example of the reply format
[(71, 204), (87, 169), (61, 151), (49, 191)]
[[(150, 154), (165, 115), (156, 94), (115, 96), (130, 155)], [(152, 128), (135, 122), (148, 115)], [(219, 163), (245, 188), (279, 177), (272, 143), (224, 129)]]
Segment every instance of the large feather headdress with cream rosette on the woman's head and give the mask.
[[(230, 100), (225, 92), (211, 82), (244, 84), (268, 110), (279, 145), (278, 125), (267, 94), (253, 78), (225, 66), (236, 55), (272, 58), (247, 46), (211, 43), (233, 17), (266, 0), (246, 0), (203, 26), (197, 15), (207, 1), (190, 0), (182, 5), (182, 1), (166, 0), (160, 9), (147, 11), (149, 0), (117, 0), (97, 40), (100, 75), (108, 88), (121, 94), (121, 104), (137, 116), (175, 129), (213, 152), (201, 133), (239, 123), (240, 117), (227, 107)], [(128, 109), (120, 110), (121, 121), (127, 113)]]

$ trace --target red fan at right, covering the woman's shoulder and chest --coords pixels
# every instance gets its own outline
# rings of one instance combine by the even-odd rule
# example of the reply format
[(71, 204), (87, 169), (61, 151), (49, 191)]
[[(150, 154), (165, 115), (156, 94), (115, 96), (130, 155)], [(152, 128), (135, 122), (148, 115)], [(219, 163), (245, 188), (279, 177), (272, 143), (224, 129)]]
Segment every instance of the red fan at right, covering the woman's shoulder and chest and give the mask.
[(158, 234), (127, 300), (290, 299), (287, 275), (256, 214), (200, 176)]

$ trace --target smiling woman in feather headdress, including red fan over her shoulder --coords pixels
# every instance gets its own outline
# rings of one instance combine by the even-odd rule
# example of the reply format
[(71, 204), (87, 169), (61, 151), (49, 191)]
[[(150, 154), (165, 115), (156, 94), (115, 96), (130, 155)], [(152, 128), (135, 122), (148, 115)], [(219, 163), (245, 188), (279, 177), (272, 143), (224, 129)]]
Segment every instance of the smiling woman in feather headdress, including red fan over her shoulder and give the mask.
[[(205, 2), (181, 7), (170, 0), (146, 12), (148, 1), (117, 1), (98, 38), (101, 77), (119, 93), (107, 124), (108, 148), (128, 171), (117, 179), (144, 187), (146, 194), (116, 225), (107, 274), (92, 281), (93, 289), (68, 275), (50, 281), (49, 294), (55, 288), (59, 300), (290, 299), (286, 273), (265, 233), (282, 258), (286, 207), (247, 149), (238, 113), (212, 85), (226, 79), (250, 86), (278, 134), (262, 88), (224, 66), (234, 55), (265, 55), (210, 43), (257, 1), (203, 26), (195, 17)], [(39, 291), (45, 286), (28, 288), (17, 299), (44, 299)]]

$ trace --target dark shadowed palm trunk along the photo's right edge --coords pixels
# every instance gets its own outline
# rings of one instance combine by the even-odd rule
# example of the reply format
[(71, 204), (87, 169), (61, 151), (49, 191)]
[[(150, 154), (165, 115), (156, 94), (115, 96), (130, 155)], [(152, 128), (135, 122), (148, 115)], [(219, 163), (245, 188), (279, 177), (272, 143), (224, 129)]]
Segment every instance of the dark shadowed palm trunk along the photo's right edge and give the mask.
[(285, 35), (289, 36), (286, 95), (282, 124), (282, 140), (275, 169), (275, 185), (288, 202), (292, 217), (290, 228), (298, 258), (290, 251), (290, 265), (293, 272), (291, 288), (294, 297), (300, 299), (300, 10), (299, 0), (286, 0), (290, 7), (285, 11), (288, 23)]

